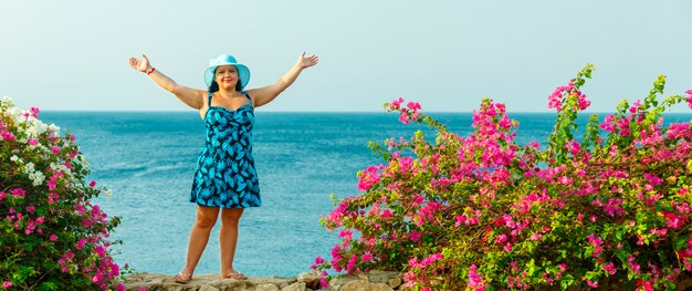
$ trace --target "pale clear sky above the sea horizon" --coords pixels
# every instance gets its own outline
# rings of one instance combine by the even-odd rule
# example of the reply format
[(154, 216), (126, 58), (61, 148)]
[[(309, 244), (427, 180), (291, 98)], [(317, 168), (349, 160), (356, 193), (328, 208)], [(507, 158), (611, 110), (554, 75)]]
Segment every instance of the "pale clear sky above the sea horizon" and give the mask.
[[(553, 90), (593, 63), (589, 112), (692, 89), (692, 1), (15, 1), (0, 0), (0, 96), (42, 111), (191, 111), (127, 65), (145, 53), (205, 89), (210, 59), (233, 54), (249, 89), (301, 52), (319, 63), (266, 112), (381, 112), (398, 97), (428, 112), (551, 112)], [(673, 112), (690, 112), (679, 105)]]

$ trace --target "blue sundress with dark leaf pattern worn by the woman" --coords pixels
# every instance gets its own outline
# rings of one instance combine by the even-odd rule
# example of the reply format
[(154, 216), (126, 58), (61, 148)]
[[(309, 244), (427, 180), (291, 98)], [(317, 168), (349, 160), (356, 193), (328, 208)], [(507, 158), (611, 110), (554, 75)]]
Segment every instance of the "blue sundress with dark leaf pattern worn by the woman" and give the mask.
[(235, 111), (211, 106), (209, 93), (205, 126), (207, 142), (197, 159), (191, 202), (221, 208), (259, 207), (260, 183), (252, 158), (252, 100)]

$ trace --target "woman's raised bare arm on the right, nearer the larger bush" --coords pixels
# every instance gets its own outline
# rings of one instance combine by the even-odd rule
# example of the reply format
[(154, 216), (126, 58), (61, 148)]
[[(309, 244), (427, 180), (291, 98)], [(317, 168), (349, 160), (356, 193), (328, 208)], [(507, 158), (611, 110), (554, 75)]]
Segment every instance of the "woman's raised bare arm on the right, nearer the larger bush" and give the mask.
[(317, 55), (305, 56), (305, 52), (303, 52), (298, 60), (295, 62), (295, 65), (289, 70), (283, 76), (276, 80), (276, 83), (273, 85), (269, 85), (265, 87), (252, 89), (248, 90), (248, 94), (254, 98), (254, 106), (259, 107), (266, 103), (270, 103), (274, 100), (281, 92), (286, 90), (293, 82), (298, 77), (303, 69), (311, 67), (317, 64), (319, 60)]

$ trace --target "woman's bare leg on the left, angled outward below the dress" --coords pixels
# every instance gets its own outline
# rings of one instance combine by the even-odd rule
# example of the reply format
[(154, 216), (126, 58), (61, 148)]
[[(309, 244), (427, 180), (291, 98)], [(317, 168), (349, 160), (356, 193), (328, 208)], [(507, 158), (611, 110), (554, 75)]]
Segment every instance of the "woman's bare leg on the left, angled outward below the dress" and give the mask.
[(197, 206), (197, 219), (190, 231), (188, 257), (182, 273), (192, 274), (195, 272), (195, 268), (199, 262), (199, 258), (202, 257), (202, 252), (205, 252), (205, 248), (209, 241), (209, 233), (217, 222), (218, 216), (218, 207)]

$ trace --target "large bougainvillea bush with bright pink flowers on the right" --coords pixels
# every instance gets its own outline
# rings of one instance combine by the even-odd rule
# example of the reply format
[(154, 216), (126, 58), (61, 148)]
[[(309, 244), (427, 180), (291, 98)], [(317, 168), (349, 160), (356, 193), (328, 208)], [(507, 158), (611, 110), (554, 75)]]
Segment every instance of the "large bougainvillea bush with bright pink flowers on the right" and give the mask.
[[(587, 65), (549, 95), (557, 121), (546, 146), (517, 144), (518, 123), (484, 100), (460, 136), (401, 98), (403, 123), (433, 127), (371, 143), (385, 163), (358, 173), (360, 195), (322, 219), (340, 241), (314, 268), (403, 272), (418, 290), (686, 288), (692, 274), (692, 129), (663, 123), (692, 91), (591, 116), (577, 138)], [(430, 141), (429, 141), (430, 139)]]

